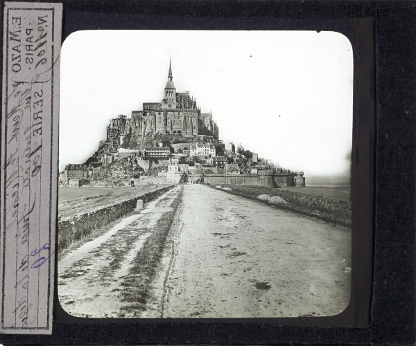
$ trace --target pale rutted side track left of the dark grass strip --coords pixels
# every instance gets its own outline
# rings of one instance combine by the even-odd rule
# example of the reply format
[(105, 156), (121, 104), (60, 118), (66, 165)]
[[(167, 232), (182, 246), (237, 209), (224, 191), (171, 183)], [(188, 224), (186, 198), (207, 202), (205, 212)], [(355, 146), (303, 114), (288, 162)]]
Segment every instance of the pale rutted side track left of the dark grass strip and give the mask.
[[(137, 253), (154, 235), (159, 219), (172, 213), (177, 188), (151, 201), (137, 215), (125, 217), (103, 236), (62, 258), (58, 263), (58, 295), (73, 316), (123, 317), (123, 284), (131, 276)], [(128, 311), (137, 317), (139, 311)], [(131, 315), (131, 316), (130, 316)]]

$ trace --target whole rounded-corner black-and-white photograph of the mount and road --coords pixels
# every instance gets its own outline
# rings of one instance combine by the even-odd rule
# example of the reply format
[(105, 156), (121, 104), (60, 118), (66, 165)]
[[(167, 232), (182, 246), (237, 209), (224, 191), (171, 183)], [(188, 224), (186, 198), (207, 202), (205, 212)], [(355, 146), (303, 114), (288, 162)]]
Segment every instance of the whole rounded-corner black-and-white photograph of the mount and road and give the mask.
[(84, 30), (64, 40), (60, 69), (64, 311), (198, 320), (347, 308), (347, 37)]

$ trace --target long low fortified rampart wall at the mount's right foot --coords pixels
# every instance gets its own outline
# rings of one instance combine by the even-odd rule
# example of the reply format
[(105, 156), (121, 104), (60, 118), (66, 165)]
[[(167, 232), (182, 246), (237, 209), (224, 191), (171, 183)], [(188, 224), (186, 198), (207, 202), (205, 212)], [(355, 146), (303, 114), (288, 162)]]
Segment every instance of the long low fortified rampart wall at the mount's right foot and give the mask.
[(205, 174), (204, 183), (209, 185), (257, 185), (268, 188), (295, 186), (295, 174), (279, 174), (274, 171), (259, 171), (259, 174)]

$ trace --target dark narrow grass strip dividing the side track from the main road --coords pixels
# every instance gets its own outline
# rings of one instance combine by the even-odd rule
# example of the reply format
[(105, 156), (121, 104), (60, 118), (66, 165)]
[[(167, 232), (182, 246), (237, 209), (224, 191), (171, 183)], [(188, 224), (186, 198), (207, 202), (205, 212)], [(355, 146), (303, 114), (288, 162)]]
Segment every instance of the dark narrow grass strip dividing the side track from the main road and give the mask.
[(180, 201), (182, 201), (182, 190), (177, 199), (173, 201), (172, 210), (165, 212), (157, 220), (157, 224), (151, 230), (152, 234), (146, 239), (133, 260), (132, 268), (121, 284), (124, 287), (120, 293), (121, 301), (130, 303), (121, 307), (121, 318), (125, 316), (125, 313), (136, 315), (145, 309), (150, 282), (153, 280), (157, 265), (162, 258), (166, 237)]

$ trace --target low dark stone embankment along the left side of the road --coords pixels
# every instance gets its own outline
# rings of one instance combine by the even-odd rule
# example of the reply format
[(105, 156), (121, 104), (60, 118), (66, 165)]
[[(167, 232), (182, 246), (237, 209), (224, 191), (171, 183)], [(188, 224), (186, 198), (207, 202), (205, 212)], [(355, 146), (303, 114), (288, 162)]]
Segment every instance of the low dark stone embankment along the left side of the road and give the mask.
[(73, 240), (80, 239), (83, 236), (89, 235), (93, 230), (101, 228), (110, 224), (110, 222), (119, 219), (135, 210), (137, 200), (141, 199), (145, 203), (156, 199), (168, 190), (171, 190), (175, 185), (169, 185), (164, 188), (159, 188), (153, 192), (140, 194), (137, 197), (114, 203), (111, 206), (106, 206), (92, 212), (86, 212), (82, 215), (76, 215), (71, 219), (58, 220), (58, 251), (67, 248)]

